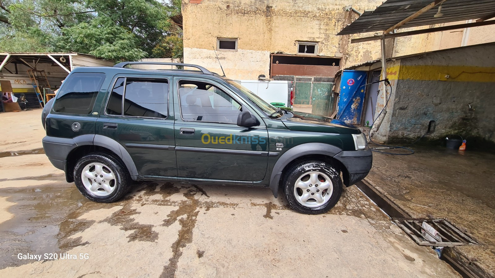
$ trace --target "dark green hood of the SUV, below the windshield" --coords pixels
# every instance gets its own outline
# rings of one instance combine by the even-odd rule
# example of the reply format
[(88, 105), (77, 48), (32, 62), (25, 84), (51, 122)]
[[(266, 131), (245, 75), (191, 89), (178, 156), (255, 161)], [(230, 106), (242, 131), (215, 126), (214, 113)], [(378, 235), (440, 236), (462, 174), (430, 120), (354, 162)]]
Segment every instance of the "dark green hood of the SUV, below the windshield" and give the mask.
[(338, 134), (360, 134), (361, 131), (341, 120), (311, 113), (295, 112), (294, 117), (282, 122), (290, 130), (326, 132)]

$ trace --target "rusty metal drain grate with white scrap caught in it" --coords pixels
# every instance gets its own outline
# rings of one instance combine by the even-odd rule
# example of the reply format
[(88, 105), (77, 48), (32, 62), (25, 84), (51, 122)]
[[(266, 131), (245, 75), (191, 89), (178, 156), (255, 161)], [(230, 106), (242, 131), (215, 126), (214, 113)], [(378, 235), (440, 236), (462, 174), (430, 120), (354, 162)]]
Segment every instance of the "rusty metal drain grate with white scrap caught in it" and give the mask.
[[(445, 219), (393, 218), (392, 220), (418, 245), (453, 247), (478, 244)], [(428, 224), (435, 231), (423, 228), (423, 223)]]

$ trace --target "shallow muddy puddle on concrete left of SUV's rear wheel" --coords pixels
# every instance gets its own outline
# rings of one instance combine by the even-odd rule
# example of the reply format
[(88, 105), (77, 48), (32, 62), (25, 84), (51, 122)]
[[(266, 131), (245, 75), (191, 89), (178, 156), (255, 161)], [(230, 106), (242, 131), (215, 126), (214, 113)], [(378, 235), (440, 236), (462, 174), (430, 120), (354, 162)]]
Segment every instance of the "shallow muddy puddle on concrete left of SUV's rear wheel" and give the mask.
[(15, 203), (8, 209), (14, 217), (0, 226), (0, 269), (30, 262), (17, 259), (18, 253), (59, 252), (60, 223), (87, 202), (74, 184), (65, 181), (1, 188), (0, 196)]

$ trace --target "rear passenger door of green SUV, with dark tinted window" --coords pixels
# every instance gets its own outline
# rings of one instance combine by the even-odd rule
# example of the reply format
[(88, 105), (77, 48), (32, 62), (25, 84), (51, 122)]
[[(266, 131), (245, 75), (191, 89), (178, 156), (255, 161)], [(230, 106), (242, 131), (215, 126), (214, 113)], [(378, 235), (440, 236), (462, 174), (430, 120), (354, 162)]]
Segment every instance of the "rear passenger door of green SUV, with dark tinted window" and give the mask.
[(116, 76), (96, 123), (96, 134), (119, 142), (142, 176), (177, 177), (169, 85), (162, 75)]

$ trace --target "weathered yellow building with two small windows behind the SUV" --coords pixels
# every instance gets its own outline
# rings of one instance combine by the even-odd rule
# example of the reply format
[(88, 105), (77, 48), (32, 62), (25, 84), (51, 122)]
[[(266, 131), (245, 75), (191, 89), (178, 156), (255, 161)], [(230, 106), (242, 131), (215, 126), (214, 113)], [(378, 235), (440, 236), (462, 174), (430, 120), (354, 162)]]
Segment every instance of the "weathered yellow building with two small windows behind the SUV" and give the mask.
[(350, 5), (365, 10), (380, 3), (183, 1), (184, 62), (221, 73), (219, 60), (225, 74), (238, 80), (264, 75), (296, 82), (295, 109), (328, 114), (335, 103), (335, 73), (343, 64), (373, 59), (380, 52), (349, 46), (348, 36), (336, 34), (358, 16)]

